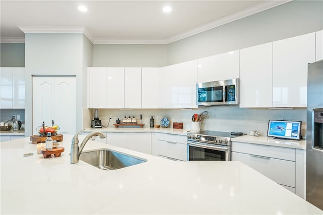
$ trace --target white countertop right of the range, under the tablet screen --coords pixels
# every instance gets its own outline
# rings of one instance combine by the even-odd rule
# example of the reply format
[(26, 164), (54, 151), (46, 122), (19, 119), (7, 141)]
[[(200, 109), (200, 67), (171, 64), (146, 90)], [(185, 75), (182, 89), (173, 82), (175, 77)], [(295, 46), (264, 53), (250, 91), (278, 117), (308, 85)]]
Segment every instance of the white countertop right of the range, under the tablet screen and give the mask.
[(266, 146), (285, 147), (293, 149), (306, 150), (306, 140), (278, 140), (267, 136), (242, 135), (234, 137), (231, 141), (248, 142), (250, 144), (259, 144)]

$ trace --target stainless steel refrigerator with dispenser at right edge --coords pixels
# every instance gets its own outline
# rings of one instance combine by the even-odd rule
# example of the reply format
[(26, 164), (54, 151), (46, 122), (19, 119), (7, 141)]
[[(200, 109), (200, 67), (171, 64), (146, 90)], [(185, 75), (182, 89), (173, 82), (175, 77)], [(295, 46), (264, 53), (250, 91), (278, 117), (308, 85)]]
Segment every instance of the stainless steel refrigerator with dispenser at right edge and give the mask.
[(306, 200), (323, 210), (323, 60), (308, 64)]

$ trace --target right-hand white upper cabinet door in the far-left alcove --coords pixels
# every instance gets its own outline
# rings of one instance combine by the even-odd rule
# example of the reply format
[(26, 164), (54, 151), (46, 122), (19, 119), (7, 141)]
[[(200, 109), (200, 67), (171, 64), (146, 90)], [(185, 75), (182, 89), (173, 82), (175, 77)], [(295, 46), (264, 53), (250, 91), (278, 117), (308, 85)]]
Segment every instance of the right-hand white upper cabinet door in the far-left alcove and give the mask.
[(25, 68), (13, 68), (13, 108), (25, 108)]

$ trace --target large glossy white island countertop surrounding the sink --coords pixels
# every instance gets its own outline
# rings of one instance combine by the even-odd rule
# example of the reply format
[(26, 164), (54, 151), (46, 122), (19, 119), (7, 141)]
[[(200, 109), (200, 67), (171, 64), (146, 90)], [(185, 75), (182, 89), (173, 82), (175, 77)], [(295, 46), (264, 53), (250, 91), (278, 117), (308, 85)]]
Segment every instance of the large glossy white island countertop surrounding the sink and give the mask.
[[(84, 136), (80, 137), (80, 141)], [(147, 162), (102, 171), (37, 155), (29, 137), (0, 143), (1, 214), (322, 214), (241, 162), (175, 162), (89, 141)], [(23, 154), (34, 153), (31, 157)]]

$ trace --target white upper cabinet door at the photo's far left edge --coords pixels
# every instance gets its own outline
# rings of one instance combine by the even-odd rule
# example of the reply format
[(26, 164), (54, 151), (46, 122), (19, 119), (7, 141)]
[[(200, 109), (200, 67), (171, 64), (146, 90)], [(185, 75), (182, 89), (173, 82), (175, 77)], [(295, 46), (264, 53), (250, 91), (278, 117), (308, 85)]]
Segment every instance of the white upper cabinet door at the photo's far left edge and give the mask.
[(0, 68), (0, 108), (13, 108), (13, 68)]

